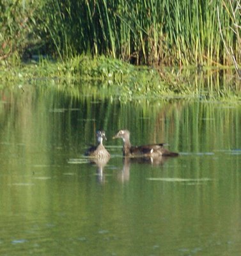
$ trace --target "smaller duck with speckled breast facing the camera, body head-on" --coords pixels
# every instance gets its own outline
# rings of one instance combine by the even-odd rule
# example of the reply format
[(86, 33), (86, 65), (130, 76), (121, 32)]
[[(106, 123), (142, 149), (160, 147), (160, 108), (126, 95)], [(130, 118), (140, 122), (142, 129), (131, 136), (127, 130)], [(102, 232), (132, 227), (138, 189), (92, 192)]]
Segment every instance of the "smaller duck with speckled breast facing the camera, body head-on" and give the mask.
[(94, 157), (94, 158), (97, 158), (97, 159), (109, 159), (111, 157), (111, 155), (105, 149), (105, 147), (102, 143), (103, 139), (107, 140), (106, 137), (105, 137), (105, 132), (104, 131), (97, 131), (98, 145), (88, 148), (85, 155), (90, 156), (90, 157)]

